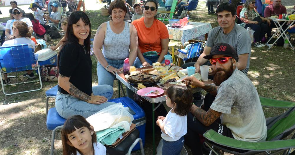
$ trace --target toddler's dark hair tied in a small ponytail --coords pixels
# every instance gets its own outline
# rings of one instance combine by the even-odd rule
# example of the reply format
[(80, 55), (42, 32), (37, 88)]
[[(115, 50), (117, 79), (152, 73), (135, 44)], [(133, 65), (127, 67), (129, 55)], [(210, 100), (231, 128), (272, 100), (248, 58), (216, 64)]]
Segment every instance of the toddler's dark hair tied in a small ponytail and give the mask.
[(168, 88), (167, 96), (171, 99), (171, 103), (176, 105), (173, 107), (174, 112), (178, 115), (185, 116), (189, 113), (193, 103), (193, 95), (191, 88), (173, 85)]

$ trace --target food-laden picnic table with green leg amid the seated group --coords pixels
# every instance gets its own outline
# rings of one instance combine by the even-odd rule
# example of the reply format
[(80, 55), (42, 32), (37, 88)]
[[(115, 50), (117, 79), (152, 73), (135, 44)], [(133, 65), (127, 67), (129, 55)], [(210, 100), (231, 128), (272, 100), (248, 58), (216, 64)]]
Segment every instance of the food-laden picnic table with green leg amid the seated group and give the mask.
[[(162, 64), (162, 66), (165, 66), (165, 63)], [(142, 67), (142, 68), (136, 68), (136, 71), (141, 71), (142, 69), (148, 69), (148, 68), (153, 68), (153, 66), (148, 66), (148, 67)], [(181, 68), (182, 69), (182, 68)], [(123, 71), (117, 72), (116, 73), (116, 78), (122, 82), (122, 84), (124, 84), (127, 88), (131, 89), (133, 92), (137, 93), (138, 88), (135, 86), (130, 85), (127, 82), (127, 79), (125, 79)], [(214, 85), (214, 81), (208, 79), (208, 81), (203, 81), (205, 84), (210, 84), (210, 85)], [(153, 87), (159, 87), (158, 85), (154, 85)], [(200, 92), (203, 89), (201, 89), (200, 87), (196, 87), (193, 89), (193, 93), (194, 92)], [(152, 114), (152, 120), (153, 120), (153, 155), (155, 155), (155, 110), (163, 103), (166, 101), (166, 96), (167, 96), (167, 92), (165, 91), (163, 93), (162, 96), (160, 97), (147, 97), (147, 96), (141, 96), (142, 98), (146, 99), (148, 102), (150, 102), (152, 104), (152, 109), (153, 109), (153, 114)], [(155, 107), (155, 104), (159, 103), (157, 105), (157, 107)]]

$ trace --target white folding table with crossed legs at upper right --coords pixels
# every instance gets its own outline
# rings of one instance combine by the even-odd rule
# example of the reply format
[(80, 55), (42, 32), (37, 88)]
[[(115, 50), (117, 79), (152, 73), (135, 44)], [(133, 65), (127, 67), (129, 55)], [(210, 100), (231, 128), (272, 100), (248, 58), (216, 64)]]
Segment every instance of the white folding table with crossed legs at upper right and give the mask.
[[(271, 36), (271, 39), (277, 34), (277, 33), (280, 33), (281, 35), (273, 42), (273, 44), (269, 45), (268, 42), (271, 40), (269, 39), (268, 42), (266, 43), (266, 45), (268, 45), (268, 50), (271, 48), (271, 46), (273, 46), (277, 41), (278, 39), (284, 35), (284, 37), (288, 40), (290, 46), (292, 47), (292, 49), (294, 50), (294, 47), (293, 45), (290, 43), (290, 40), (289, 38), (287, 37), (286, 35), (286, 31), (289, 29), (289, 27), (291, 25), (293, 25), (293, 23), (295, 22), (295, 20), (286, 20), (286, 19), (277, 19), (277, 18), (270, 18), (273, 20), (273, 22), (275, 23), (276, 27), (277, 27), (277, 31)], [(291, 22), (288, 27), (286, 28), (286, 30), (283, 29), (282, 25), (284, 25), (286, 22)]]

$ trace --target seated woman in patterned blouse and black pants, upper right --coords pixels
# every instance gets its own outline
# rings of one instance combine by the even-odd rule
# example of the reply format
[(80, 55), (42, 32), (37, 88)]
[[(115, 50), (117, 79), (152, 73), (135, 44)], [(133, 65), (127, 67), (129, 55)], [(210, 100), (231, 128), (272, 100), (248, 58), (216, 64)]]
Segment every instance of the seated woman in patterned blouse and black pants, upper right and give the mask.
[(240, 12), (240, 18), (246, 23), (245, 28), (251, 27), (251, 29), (255, 31), (254, 46), (258, 48), (265, 47), (265, 45), (261, 43), (261, 40), (265, 36), (268, 26), (264, 24), (263, 21), (267, 21), (268, 25), (271, 24), (271, 21), (259, 16), (259, 13), (255, 9), (255, 0), (247, 0), (245, 2), (243, 9)]

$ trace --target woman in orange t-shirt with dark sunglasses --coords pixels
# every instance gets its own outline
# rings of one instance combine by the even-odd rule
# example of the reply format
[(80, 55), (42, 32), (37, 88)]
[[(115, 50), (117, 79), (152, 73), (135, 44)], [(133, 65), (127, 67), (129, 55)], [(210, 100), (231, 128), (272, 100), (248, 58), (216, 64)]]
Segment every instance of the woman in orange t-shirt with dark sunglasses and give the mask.
[(138, 45), (135, 67), (151, 66), (152, 63), (164, 63), (168, 53), (169, 34), (166, 25), (155, 19), (158, 5), (154, 0), (144, 4), (143, 18), (132, 22), (137, 30)]

